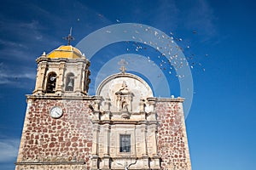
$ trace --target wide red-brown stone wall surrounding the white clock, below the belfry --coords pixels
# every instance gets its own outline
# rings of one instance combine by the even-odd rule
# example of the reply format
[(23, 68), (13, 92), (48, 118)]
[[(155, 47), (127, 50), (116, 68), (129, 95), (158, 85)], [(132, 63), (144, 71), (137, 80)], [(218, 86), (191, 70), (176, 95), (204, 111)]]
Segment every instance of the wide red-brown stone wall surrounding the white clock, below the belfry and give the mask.
[[(28, 98), (16, 170), (90, 169), (91, 102), (90, 99)], [(49, 116), (55, 105), (63, 109), (59, 119)]]

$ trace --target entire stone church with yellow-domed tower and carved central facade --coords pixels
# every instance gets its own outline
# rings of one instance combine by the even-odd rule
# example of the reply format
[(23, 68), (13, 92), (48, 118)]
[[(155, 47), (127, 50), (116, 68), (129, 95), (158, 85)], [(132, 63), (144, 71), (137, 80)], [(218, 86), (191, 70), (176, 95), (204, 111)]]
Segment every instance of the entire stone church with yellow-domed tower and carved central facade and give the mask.
[(191, 170), (183, 98), (154, 97), (124, 65), (90, 96), (90, 61), (70, 44), (36, 61), (15, 170)]

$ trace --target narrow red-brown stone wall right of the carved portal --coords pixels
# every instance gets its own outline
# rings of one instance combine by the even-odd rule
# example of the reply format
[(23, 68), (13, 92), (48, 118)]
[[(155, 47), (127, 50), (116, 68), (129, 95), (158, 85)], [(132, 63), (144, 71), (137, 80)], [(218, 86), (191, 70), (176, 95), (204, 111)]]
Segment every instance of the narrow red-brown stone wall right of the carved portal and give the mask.
[(190, 170), (189, 146), (180, 101), (158, 99), (158, 152), (162, 169)]

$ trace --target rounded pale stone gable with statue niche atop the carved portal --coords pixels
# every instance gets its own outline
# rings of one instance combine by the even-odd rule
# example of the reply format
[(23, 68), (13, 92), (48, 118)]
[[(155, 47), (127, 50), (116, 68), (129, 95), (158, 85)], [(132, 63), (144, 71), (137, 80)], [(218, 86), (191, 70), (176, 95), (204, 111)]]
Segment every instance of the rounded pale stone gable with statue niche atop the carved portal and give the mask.
[[(113, 74), (104, 79), (96, 90), (102, 96), (102, 110), (122, 112), (123, 118), (129, 118), (130, 112), (139, 112), (142, 99), (153, 98), (153, 91), (141, 77), (131, 73)], [(104, 102), (111, 101), (110, 107)], [(107, 102), (108, 103), (108, 102)]]

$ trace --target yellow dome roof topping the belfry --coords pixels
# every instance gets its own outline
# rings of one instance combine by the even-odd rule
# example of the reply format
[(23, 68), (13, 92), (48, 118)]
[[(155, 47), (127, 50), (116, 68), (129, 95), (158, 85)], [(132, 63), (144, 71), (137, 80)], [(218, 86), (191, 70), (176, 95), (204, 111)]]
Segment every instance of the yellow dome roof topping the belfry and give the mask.
[(71, 45), (61, 46), (56, 48), (47, 55), (48, 58), (57, 59), (57, 58), (66, 58), (66, 59), (77, 59), (82, 57), (82, 53), (78, 48), (74, 48)]

